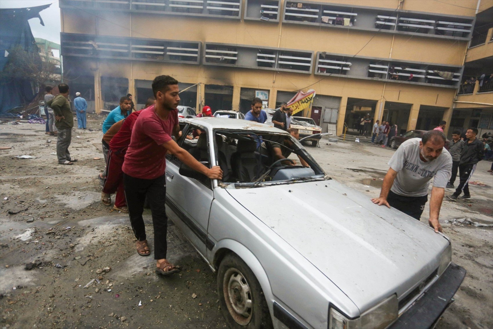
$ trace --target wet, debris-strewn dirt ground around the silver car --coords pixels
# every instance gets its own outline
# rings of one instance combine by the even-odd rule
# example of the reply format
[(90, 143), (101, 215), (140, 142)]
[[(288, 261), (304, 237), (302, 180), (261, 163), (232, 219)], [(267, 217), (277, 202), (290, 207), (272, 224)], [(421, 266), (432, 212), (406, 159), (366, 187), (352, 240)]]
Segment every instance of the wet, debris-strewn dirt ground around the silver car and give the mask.
[[(163, 278), (152, 256), (137, 255), (128, 215), (100, 202), (103, 120), (89, 115), (87, 130), (73, 129), (70, 153), (79, 161), (71, 166), (57, 164), (56, 137), (45, 135), (44, 125), (0, 123), (0, 146), (12, 147), (0, 150), (0, 328), (225, 328), (215, 275), (173, 214), (169, 259), (181, 272)], [(332, 178), (378, 195), (393, 150), (326, 140), (320, 146), (307, 149)], [(14, 158), (21, 155), (36, 159)], [(440, 329), (493, 328), (493, 228), (447, 223), (493, 224), (490, 166), (478, 164), (472, 180), (486, 186), (470, 185), (470, 202), (442, 206), (453, 261), (467, 275)], [(152, 246), (148, 210), (144, 221)]]

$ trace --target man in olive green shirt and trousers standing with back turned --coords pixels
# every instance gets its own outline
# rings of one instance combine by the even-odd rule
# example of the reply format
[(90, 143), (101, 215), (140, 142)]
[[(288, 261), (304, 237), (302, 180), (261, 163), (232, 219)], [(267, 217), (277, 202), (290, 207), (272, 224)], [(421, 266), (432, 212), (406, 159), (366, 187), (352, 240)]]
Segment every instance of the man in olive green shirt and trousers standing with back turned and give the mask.
[(59, 164), (73, 164), (77, 159), (70, 157), (69, 146), (72, 139), (73, 114), (69, 102), (69, 86), (65, 83), (58, 85), (60, 94), (48, 101), (53, 109), (55, 126), (58, 129), (57, 157)]

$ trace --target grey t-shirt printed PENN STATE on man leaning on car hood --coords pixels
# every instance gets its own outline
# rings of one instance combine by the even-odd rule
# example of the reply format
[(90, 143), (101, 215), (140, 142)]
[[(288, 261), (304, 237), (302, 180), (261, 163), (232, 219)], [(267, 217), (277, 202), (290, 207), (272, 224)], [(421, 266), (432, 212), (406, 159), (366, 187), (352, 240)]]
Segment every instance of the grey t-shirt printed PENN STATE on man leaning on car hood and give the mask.
[(445, 148), (438, 158), (423, 162), (420, 159), (421, 138), (411, 138), (402, 143), (388, 162), (397, 171), (390, 191), (407, 197), (428, 194), (431, 178), (434, 187), (447, 186), (452, 172), (452, 157)]

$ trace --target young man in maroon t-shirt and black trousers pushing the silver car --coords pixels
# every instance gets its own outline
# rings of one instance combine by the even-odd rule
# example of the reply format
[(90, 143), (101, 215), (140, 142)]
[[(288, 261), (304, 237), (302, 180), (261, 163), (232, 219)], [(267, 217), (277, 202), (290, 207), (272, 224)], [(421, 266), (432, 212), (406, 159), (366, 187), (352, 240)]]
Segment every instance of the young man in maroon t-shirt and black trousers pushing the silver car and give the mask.
[(154, 226), (156, 273), (163, 275), (177, 272), (176, 267), (166, 259), (166, 152), (174, 154), (182, 163), (211, 179), (222, 178), (219, 166), (206, 167), (172, 139), (172, 134), (176, 139), (180, 137), (176, 109), (180, 101), (178, 91), (178, 82), (174, 78), (159, 76), (154, 79), (152, 92), (156, 97), (156, 104), (142, 110), (137, 118), (122, 167), (125, 196), (130, 222), (137, 238), (137, 250), (141, 256), (149, 255), (142, 253), (142, 250), (149, 250), (142, 220), (144, 200), (147, 196)]

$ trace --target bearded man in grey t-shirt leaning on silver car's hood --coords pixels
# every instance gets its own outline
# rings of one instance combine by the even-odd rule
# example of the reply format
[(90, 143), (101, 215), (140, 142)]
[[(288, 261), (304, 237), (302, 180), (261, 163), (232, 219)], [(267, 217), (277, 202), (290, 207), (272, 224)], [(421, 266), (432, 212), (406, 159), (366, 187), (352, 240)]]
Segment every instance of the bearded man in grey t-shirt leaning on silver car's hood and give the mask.
[(388, 162), (390, 168), (380, 197), (371, 199), (372, 202), (392, 206), (420, 220), (433, 178), (428, 223), (435, 232), (442, 232), (438, 215), (452, 170), (452, 157), (444, 147), (445, 135), (438, 130), (425, 132), (423, 139), (412, 138), (402, 143)]

